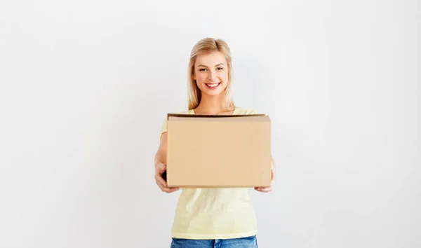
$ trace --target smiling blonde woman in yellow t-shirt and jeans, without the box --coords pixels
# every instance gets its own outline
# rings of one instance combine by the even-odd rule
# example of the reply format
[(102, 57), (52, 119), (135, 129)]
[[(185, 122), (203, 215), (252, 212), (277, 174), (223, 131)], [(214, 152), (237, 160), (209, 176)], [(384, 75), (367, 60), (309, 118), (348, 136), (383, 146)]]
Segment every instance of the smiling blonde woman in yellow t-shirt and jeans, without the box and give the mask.
[[(236, 115), (256, 111), (234, 106), (232, 58), (227, 43), (202, 39), (192, 49), (189, 61), (189, 114)], [(162, 178), (166, 171), (166, 121), (155, 156), (156, 184), (168, 188)], [(274, 161), (272, 159), (272, 184)], [(268, 188), (255, 188), (269, 192)], [(182, 190), (175, 211), (171, 247), (258, 247), (257, 221), (247, 188), (186, 188)]]

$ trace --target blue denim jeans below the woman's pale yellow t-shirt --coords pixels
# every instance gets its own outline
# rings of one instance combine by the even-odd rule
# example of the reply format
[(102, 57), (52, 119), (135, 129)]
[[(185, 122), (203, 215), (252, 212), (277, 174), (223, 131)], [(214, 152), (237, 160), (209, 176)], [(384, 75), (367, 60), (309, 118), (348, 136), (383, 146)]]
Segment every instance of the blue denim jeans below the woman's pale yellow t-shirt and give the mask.
[(255, 235), (227, 240), (187, 240), (173, 237), (171, 248), (258, 248)]

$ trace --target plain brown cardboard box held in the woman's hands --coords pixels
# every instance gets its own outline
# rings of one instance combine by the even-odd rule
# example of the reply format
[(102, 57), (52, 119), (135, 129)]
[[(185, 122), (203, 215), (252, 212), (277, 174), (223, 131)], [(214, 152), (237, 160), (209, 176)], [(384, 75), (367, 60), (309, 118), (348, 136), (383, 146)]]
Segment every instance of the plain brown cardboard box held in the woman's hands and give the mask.
[(269, 186), (271, 121), (257, 115), (168, 114), (169, 187)]

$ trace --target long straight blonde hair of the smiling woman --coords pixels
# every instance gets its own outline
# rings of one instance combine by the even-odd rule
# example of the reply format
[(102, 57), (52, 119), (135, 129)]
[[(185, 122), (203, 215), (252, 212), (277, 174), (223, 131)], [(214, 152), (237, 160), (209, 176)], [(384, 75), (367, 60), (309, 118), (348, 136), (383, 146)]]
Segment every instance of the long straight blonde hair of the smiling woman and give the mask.
[(194, 63), (196, 62), (196, 57), (201, 54), (220, 52), (225, 55), (227, 60), (228, 67), (228, 82), (227, 87), (225, 88), (225, 106), (228, 110), (235, 108), (234, 101), (232, 99), (232, 58), (231, 50), (227, 43), (221, 39), (205, 38), (201, 39), (199, 42), (194, 45), (192, 52), (190, 53), (189, 60), (189, 82), (188, 82), (188, 92), (189, 92), (189, 109), (196, 109), (199, 106), (201, 101), (201, 90), (196, 84), (196, 80), (193, 79), (194, 75)]

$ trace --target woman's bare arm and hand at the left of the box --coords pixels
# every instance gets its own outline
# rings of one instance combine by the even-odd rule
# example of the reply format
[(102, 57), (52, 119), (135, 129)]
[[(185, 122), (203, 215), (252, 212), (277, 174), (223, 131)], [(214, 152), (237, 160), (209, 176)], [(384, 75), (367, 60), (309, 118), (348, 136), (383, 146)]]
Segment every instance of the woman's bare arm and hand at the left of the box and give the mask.
[(166, 181), (162, 178), (163, 172), (166, 172), (166, 154), (167, 154), (167, 133), (163, 132), (159, 142), (158, 151), (155, 154), (155, 181), (161, 188), (161, 191), (172, 193), (179, 188), (168, 188)]

